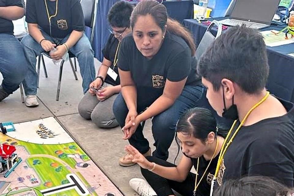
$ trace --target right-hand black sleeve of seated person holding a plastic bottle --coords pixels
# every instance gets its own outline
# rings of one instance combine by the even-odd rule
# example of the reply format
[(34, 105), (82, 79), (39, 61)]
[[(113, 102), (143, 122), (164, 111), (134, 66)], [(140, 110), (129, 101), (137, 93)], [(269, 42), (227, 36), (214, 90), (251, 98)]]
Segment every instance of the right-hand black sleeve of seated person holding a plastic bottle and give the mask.
[(81, 3), (77, 0), (73, 1), (74, 4), (71, 7), (71, 15), (72, 15), (72, 24), (73, 30), (76, 31), (84, 31), (85, 29), (85, 19), (83, 14), (83, 9)]

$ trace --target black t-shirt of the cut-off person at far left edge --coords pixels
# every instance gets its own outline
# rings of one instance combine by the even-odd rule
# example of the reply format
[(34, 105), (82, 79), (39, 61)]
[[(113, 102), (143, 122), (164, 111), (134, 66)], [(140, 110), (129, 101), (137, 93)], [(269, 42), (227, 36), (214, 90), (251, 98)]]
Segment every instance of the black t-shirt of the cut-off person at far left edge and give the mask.
[[(21, 0), (0, 0), (0, 7), (19, 6), (23, 7)], [(13, 35), (13, 23), (0, 17), (0, 33)]]

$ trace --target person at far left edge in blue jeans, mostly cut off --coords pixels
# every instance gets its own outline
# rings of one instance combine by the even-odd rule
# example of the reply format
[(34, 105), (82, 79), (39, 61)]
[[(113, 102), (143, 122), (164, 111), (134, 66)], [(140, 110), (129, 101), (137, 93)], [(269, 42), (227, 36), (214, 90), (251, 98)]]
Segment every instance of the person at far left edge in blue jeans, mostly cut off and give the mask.
[(0, 101), (19, 87), (28, 70), (24, 48), (13, 36), (13, 20), (24, 16), (21, 0), (0, 0)]

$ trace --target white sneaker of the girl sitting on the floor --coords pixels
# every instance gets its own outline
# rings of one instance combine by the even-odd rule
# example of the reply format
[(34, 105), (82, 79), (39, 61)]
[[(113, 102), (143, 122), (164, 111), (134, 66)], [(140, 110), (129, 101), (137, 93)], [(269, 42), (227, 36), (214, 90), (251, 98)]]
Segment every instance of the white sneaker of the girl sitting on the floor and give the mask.
[(134, 189), (141, 196), (157, 196), (153, 188), (148, 182), (141, 178), (132, 178), (129, 181), (130, 187)]

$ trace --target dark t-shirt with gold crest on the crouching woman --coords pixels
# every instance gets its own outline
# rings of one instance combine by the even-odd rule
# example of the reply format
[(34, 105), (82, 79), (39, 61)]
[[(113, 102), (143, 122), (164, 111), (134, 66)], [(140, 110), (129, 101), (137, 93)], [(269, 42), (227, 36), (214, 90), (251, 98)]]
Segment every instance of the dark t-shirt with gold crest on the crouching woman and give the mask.
[(130, 71), (137, 87), (138, 97), (148, 97), (150, 93), (159, 97), (163, 93), (166, 79), (181, 81), (186, 85), (201, 84), (197, 75), (197, 61), (181, 37), (166, 33), (161, 48), (152, 59), (144, 57), (137, 49), (133, 36), (126, 36), (119, 50), (119, 69)]

